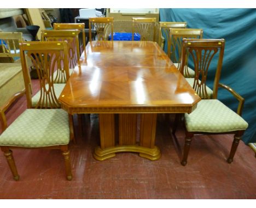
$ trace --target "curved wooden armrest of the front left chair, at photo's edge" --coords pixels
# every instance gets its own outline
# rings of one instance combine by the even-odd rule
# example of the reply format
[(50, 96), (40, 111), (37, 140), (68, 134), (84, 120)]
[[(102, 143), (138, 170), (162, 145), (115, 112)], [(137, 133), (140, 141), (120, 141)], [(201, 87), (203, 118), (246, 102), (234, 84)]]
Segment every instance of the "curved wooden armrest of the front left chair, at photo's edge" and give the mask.
[(13, 104), (19, 97), (23, 96), (24, 94), (25, 89), (11, 96), (7, 103), (5, 103), (3, 106), (0, 106), (0, 121), (2, 126), (2, 132), (7, 129), (7, 120), (4, 112), (11, 106), (11, 104)]

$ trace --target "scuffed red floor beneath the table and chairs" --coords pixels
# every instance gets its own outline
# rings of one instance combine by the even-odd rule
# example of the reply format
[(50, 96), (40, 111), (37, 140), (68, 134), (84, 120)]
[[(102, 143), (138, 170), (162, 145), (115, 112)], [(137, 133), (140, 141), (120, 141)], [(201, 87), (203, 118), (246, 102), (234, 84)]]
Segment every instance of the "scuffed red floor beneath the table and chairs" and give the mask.
[[(36, 81), (33, 81), (36, 82)], [(26, 109), (25, 96), (7, 113), (8, 123)], [(173, 138), (162, 114), (156, 145), (162, 156), (149, 161), (135, 153), (119, 153), (99, 162), (92, 157), (99, 145), (98, 117), (85, 115), (84, 135), (75, 117), (78, 144), (70, 145), (73, 180), (65, 178), (57, 150), (14, 150), (20, 181), (14, 181), (0, 154), (1, 199), (255, 199), (256, 158), (243, 142), (228, 164), (232, 136), (195, 136), (186, 167), (181, 166), (182, 126)], [(170, 123), (171, 126), (171, 123)]]

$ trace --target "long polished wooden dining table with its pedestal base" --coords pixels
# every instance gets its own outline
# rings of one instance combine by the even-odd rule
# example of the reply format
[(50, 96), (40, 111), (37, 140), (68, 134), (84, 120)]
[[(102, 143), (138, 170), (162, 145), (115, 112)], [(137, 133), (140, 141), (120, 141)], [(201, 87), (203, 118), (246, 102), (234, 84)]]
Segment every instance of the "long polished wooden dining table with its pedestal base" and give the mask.
[(98, 114), (98, 161), (118, 152), (158, 160), (157, 115), (191, 113), (200, 100), (153, 41), (88, 42), (59, 97), (71, 115)]

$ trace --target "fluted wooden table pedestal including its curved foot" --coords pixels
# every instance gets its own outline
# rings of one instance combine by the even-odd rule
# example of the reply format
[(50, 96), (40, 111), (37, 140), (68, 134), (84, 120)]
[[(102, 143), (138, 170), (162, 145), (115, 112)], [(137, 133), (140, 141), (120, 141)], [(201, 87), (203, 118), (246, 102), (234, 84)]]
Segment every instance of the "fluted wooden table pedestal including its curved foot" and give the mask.
[[(94, 158), (103, 161), (117, 152), (138, 152), (148, 160), (158, 160), (161, 153), (155, 146), (156, 117), (156, 113), (99, 114), (101, 146), (95, 149)], [(139, 142), (136, 142), (137, 124)]]

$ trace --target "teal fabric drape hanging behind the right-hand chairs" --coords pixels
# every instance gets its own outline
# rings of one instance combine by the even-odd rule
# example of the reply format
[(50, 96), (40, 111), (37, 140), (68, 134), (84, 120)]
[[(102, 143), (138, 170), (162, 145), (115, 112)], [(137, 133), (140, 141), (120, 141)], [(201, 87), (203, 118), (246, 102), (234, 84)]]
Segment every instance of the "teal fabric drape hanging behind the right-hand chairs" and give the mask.
[[(160, 9), (160, 21), (187, 22), (187, 28), (203, 29), (205, 39), (225, 39), (220, 83), (245, 98), (242, 117), (249, 127), (242, 140), (256, 142), (256, 9)], [(209, 70), (213, 83), (216, 69)], [(218, 99), (236, 111), (238, 102), (222, 88)]]

